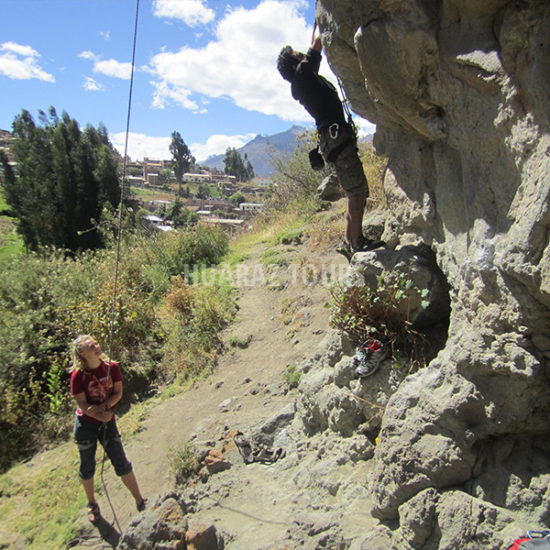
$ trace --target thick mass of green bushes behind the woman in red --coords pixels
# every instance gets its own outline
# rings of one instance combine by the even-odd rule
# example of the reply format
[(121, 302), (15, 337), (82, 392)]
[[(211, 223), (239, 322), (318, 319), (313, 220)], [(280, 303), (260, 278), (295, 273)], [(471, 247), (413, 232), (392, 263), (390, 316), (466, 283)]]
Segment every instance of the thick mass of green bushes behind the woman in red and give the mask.
[(172, 279), (188, 265), (219, 262), (227, 249), (223, 231), (201, 225), (155, 239), (126, 235), (116, 300), (113, 249), (31, 253), (0, 265), (0, 469), (67, 435), (67, 345), (78, 334), (92, 334), (106, 353), (112, 336), (125, 396), (148, 391), (160, 363), (165, 374), (212, 364), (233, 311), (230, 289), (190, 286), (190, 315), (182, 316), (170, 305), (181, 292)]

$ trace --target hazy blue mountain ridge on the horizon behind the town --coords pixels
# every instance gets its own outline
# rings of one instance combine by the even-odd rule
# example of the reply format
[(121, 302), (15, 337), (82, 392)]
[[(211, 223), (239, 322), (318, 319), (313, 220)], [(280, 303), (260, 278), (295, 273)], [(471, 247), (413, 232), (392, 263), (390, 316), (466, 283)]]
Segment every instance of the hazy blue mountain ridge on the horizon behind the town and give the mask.
[[(254, 168), (256, 176), (267, 177), (273, 172), (273, 166), (270, 162), (271, 152), (275, 150), (277, 152), (287, 151), (291, 153), (294, 147), (296, 147), (297, 136), (306, 130), (307, 128), (303, 126), (292, 126), (285, 132), (272, 136), (262, 136), (258, 134), (252, 141), (249, 141), (246, 145), (237, 149), (237, 151), (243, 158), (246, 154)], [(223, 170), (225, 168), (223, 164), (224, 158), (225, 154), (213, 155), (208, 157), (204, 162), (201, 162), (201, 165)]]

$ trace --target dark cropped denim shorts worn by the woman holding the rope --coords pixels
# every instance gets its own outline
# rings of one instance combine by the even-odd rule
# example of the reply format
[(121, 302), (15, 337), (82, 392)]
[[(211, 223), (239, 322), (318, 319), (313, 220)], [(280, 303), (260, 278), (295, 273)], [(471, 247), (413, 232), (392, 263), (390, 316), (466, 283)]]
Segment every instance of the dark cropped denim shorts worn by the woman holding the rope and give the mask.
[(124, 453), (114, 418), (105, 424), (93, 424), (77, 415), (74, 422), (74, 439), (80, 453), (78, 475), (81, 479), (94, 477), (98, 441), (105, 449), (118, 476), (124, 476), (132, 471), (132, 464)]

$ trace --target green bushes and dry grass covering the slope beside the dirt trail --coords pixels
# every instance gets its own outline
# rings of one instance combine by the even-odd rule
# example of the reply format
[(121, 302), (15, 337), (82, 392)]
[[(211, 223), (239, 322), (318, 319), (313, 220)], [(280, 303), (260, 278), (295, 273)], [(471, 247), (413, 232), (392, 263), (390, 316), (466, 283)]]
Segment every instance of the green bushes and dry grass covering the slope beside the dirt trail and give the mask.
[[(23, 534), (28, 547), (66, 544), (84, 505), (73, 472), (76, 450), (63, 443), (73, 410), (67, 344), (90, 333), (108, 351), (112, 331), (112, 356), (125, 373), (119, 412), (132, 404), (121, 419), (127, 435), (139, 430), (149, 397), (174, 395), (212, 372), (223, 347), (221, 329), (237, 311), (231, 274), (251, 249), (262, 243), (262, 261), (272, 265), (284, 261), (280, 252), (270, 253), (278, 244), (308, 238), (313, 247), (326, 247), (340, 238), (343, 211), (326, 212), (316, 198), (318, 175), (308, 174), (307, 145), (292, 159), (307, 177), (291, 182), (280, 175), (265, 212), (231, 242), (201, 224), (168, 234), (124, 233), (114, 304), (115, 242), (74, 257), (56, 250), (20, 253), (1, 265), (0, 521)], [(373, 189), (381, 189), (383, 163), (366, 169), (376, 174)], [(56, 446), (47, 459), (55, 467), (30, 475), (21, 461)], [(15, 503), (28, 494), (30, 508), (19, 517)]]

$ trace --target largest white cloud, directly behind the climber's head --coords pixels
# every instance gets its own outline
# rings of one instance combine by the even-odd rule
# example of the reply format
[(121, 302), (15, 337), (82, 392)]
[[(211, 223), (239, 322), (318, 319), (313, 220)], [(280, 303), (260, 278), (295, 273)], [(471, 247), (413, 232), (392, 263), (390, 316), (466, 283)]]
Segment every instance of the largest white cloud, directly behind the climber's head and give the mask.
[[(153, 106), (178, 103), (197, 112), (198, 98), (230, 98), (235, 105), (289, 121), (310, 121), (290, 95), (288, 82), (276, 68), (281, 48), (306, 50), (311, 41), (300, 9), (302, 0), (264, 0), (256, 8), (226, 12), (215, 39), (203, 48), (183, 46), (155, 55), (148, 70), (154, 75)], [(323, 63), (323, 73), (326, 72)]]

